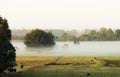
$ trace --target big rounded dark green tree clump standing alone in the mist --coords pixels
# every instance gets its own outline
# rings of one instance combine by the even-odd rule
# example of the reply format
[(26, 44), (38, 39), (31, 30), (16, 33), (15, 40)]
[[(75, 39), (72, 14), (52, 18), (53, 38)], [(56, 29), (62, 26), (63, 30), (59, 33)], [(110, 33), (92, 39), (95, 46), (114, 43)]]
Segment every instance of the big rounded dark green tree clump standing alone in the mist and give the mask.
[(55, 45), (53, 34), (39, 29), (26, 34), (24, 43), (28, 47)]

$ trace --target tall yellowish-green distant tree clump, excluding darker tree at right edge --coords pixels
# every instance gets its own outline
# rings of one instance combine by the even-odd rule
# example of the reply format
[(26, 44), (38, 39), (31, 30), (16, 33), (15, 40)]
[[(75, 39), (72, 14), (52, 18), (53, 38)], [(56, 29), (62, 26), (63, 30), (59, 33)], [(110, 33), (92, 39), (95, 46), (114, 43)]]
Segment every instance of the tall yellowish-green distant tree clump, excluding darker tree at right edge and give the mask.
[[(119, 37), (119, 30), (116, 31), (116, 35)], [(80, 35), (79, 39), (81, 41), (114, 41), (117, 40), (116, 35), (111, 28), (102, 27), (99, 31), (90, 30), (89, 33)]]

